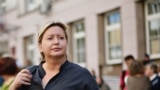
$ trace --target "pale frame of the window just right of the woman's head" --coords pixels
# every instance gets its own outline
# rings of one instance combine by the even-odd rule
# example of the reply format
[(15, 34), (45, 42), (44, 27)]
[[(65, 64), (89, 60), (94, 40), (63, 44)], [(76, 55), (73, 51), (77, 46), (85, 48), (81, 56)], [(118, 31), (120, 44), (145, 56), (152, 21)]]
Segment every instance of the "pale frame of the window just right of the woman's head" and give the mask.
[[(81, 31), (81, 32), (77, 32), (77, 30), (76, 30), (76, 24), (77, 23), (83, 23), (83, 25), (84, 25), (84, 30), (83, 31)], [(86, 38), (85, 38), (85, 22), (84, 22), (84, 20), (82, 19), (82, 20), (78, 20), (78, 21), (75, 21), (75, 22), (73, 22), (72, 23), (72, 42), (73, 42), (73, 62), (74, 63), (76, 63), (76, 64), (78, 64), (78, 65), (80, 65), (80, 66), (82, 66), (82, 67), (86, 67)], [(78, 39), (82, 39), (82, 38), (84, 38), (84, 43), (85, 43), (85, 60), (84, 60), (84, 62), (79, 62), (78, 61), (78, 55), (77, 55), (77, 40)]]

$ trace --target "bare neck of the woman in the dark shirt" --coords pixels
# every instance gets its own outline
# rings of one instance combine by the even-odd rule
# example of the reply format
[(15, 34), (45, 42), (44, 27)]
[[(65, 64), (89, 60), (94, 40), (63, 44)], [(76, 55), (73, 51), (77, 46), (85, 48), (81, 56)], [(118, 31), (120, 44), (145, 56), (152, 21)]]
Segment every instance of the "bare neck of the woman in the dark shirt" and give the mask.
[(49, 71), (59, 71), (61, 65), (66, 61), (66, 56), (63, 57), (46, 57), (43, 67)]

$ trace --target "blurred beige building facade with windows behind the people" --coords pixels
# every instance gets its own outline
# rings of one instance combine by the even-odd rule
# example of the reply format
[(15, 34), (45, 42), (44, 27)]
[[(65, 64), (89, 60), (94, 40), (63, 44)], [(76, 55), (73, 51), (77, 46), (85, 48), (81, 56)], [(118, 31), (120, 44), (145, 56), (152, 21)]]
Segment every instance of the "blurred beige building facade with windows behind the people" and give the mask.
[(144, 53), (160, 58), (160, 0), (1, 1), (6, 25), (0, 51), (22, 65), (40, 62), (36, 36), (47, 21), (69, 25), (68, 59), (98, 76), (118, 77), (128, 54), (140, 60)]

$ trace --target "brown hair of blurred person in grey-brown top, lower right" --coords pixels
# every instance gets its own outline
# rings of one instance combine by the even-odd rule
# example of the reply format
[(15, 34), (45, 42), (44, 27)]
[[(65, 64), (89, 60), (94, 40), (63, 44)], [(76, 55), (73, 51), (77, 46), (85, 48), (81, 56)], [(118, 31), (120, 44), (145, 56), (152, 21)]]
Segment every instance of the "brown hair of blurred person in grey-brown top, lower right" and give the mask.
[(144, 73), (144, 66), (143, 63), (140, 61), (134, 61), (129, 66), (129, 73), (131, 76), (135, 76), (137, 74), (143, 74)]

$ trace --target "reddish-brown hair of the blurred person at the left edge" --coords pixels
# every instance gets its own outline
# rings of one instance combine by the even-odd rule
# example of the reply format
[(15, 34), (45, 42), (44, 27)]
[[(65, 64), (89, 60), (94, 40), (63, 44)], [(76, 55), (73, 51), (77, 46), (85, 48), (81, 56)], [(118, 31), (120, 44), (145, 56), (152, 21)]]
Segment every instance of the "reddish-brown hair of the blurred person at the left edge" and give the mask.
[(16, 60), (11, 57), (0, 59), (0, 75), (15, 75), (18, 72)]

